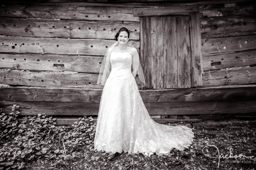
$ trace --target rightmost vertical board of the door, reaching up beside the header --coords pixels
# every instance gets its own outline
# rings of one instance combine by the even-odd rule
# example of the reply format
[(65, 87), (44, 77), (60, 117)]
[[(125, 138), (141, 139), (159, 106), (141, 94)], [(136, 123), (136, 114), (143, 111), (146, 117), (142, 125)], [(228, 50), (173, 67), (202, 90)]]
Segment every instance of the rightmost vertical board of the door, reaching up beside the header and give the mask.
[(200, 13), (190, 14), (190, 44), (191, 44), (191, 86), (203, 85), (203, 64), (201, 53)]

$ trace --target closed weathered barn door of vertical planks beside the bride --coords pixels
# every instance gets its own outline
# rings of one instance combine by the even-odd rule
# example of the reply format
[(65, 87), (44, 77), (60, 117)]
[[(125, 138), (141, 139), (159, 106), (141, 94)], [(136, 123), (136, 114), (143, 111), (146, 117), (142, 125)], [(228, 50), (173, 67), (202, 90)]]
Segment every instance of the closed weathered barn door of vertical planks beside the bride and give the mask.
[(190, 16), (145, 16), (142, 19), (146, 88), (197, 86), (193, 83)]

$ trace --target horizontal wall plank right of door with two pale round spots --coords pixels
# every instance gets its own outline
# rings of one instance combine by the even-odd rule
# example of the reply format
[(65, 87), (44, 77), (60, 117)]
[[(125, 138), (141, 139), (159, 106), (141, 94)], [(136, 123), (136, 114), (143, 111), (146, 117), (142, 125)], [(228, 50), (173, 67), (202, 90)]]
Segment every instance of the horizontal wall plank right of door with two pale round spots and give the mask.
[(204, 38), (201, 41), (203, 55), (256, 49), (256, 35)]

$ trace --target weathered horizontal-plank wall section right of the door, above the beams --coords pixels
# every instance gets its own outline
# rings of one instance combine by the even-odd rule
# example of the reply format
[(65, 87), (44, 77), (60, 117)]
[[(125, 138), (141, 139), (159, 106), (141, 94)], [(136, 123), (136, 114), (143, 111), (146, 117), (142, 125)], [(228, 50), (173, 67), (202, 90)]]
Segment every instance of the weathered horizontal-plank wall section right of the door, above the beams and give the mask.
[(203, 86), (256, 83), (256, 3), (201, 5)]

